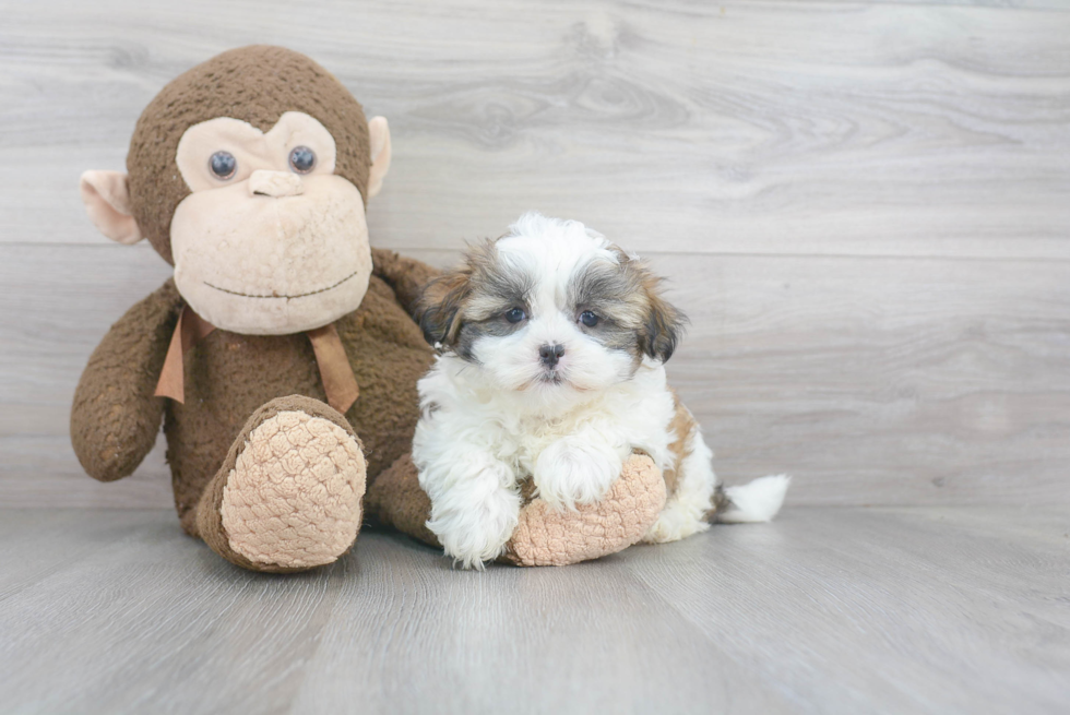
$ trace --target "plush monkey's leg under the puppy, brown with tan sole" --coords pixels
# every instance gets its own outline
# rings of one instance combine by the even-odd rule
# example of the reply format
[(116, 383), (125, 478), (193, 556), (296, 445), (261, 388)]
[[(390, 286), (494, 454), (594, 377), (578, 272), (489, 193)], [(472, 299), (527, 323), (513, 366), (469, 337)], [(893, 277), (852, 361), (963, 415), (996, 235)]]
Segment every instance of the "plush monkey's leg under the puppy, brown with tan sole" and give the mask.
[[(368, 490), (368, 515), (432, 546), (425, 522), (431, 500), (420, 489), (411, 456), (397, 460)], [(601, 502), (559, 512), (542, 499), (520, 512), (520, 524), (501, 558), (515, 565), (566, 565), (616, 553), (639, 541), (665, 507), (665, 480), (654, 462), (633, 454)]]

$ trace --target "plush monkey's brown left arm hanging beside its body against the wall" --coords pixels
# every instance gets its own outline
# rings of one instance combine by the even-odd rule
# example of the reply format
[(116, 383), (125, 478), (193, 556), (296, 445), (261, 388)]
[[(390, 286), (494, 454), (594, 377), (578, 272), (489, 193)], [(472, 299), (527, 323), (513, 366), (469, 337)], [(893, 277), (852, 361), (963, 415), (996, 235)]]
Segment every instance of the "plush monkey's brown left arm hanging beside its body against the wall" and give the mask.
[(104, 336), (74, 392), (71, 442), (94, 479), (133, 473), (156, 441), (164, 400), (155, 397), (182, 299), (168, 279)]

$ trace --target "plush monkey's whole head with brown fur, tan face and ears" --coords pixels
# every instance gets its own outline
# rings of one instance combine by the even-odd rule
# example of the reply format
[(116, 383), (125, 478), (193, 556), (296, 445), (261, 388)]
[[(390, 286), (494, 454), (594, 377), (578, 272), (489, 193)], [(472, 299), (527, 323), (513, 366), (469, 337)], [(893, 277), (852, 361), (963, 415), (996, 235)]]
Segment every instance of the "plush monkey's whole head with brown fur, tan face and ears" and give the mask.
[(387, 120), (281, 47), (223, 52), (138, 120), (127, 171), (86, 171), (97, 228), (148, 239), (182, 298), (217, 327), (312, 330), (356, 310), (371, 275), (365, 215), (390, 167)]

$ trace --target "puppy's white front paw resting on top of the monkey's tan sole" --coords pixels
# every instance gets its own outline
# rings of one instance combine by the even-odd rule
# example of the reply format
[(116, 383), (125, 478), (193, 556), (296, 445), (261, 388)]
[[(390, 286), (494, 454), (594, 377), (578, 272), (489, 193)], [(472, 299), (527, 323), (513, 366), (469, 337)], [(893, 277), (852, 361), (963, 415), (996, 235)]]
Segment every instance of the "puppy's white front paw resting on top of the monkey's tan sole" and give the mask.
[(603, 499), (620, 476), (623, 462), (608, 444), (558, 440), (535, 461), (538, 497), (562, 511)]

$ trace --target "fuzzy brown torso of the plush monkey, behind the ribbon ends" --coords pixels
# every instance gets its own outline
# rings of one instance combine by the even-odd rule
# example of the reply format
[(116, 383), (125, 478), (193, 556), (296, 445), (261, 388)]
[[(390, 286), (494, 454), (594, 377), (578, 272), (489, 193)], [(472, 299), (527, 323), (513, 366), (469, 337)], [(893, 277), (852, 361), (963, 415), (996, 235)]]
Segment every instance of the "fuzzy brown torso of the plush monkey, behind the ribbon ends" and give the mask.
[[(391, 288), (372, 276), (364, 301), (336, 322), (360, 398), (346, 418), (365, 445), (368, 481), (412, 448), (419, 417), (416, 381), (431, 350)], [(215, 476), (249, 415), (290, 394), (326, 401), (308, 337), (238, 335), (216, 330), (186, 360), (186, 404), (168, 402), (167, 461), (182, 526)]]

